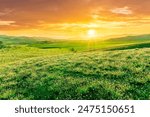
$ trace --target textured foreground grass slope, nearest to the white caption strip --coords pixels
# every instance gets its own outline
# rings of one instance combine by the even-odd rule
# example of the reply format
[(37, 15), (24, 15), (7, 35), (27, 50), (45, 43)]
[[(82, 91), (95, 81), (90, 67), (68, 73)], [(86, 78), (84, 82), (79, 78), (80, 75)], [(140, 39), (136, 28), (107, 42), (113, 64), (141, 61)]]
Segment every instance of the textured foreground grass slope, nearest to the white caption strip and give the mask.
[(1, 66), (0, 99), (150, 99), (149, 71), (148, 48), (47, 54)]

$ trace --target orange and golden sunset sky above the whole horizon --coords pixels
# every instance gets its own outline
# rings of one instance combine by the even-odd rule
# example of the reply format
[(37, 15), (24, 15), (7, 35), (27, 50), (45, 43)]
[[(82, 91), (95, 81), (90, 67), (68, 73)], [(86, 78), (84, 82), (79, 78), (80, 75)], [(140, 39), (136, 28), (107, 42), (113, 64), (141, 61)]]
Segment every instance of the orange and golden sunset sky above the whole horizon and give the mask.
[(150, 34), (150, 0), (0, 0), (0, 35)]

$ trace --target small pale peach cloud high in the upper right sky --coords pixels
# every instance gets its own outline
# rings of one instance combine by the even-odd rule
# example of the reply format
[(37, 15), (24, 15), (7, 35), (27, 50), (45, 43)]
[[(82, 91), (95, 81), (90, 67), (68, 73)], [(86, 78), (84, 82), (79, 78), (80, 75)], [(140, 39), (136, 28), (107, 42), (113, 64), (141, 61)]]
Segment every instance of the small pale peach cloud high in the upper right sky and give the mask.
[(127, 6), (125, 6), (123, 8), (112, 9), (111, 12), (115, 13), (115, 14), (123, 14), (123, 15), (131, 15), (131, 14), (133, 14), (133, 12)]

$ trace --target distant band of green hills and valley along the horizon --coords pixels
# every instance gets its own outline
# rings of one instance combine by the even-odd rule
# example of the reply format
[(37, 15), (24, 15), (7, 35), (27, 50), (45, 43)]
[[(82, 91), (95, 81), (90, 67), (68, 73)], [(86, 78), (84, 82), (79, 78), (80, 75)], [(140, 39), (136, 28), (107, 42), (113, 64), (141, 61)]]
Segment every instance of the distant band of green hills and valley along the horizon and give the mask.
[(126, 36), (108, 40), (58, 40), (42, 37), (0, 36), (0, 41), (5, 45), (28, 45), (29, 47), (40, 49), (65, 48), (76, 51), (87, 51), (96, 49), (112, 49), (123, 46), (127, 47), (130, 45), (139, 45), (141, 43), (149, 44), (150, 35)]

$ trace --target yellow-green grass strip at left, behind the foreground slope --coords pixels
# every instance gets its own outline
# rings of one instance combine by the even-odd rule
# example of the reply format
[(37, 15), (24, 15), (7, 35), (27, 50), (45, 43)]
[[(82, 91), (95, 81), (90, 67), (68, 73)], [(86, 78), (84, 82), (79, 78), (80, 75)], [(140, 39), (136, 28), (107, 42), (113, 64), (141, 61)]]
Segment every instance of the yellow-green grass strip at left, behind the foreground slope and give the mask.
[(0, 66), (9, 63), (19, 62), (25, 59), (31, 59), (43, 56), (53, 56), (69, 53), (67, 49), (39, 49), (27, 46), (12, 46), (9, 48), (0, 49)]

